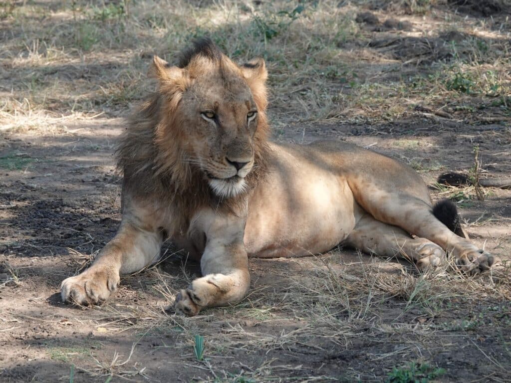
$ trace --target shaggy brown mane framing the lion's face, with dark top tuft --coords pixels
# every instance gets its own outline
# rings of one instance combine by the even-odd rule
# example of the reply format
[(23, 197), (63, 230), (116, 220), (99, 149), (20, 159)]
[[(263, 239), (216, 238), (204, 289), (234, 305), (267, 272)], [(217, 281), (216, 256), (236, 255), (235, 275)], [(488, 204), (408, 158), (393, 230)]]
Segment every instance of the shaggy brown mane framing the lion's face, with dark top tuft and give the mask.
[[(193, 65), (193, 59), (199, 55), (220, 65), (229, 60), (210, 39), (202, 38), (183, 51), (178, 67)], [(260, 60), (248, 65), (257, 68), (258, 65), (264, 66), (264, 62)], [(175, 221), (174, 231), (187, 232), (194, 213), (205, 206), (236, 213), (267, 172), (269, 127), (266, 88), (264, 81), (245, 80), (258, 105), (258, 127), (254, 135), (254, 165), (245, 178), (247, 192), (234, 198), (220, 199), (216, 196), (202, 171), (185, 160), (183, 142), (186, 137), (175, 113), (180, 95), (169, 94), (168, 89), (159, 86), (129, 118), (116, 151), (117, 169), (124, 175), (123, 188), (137, 197), (157, 199), (170, 206), (172, 220)]]

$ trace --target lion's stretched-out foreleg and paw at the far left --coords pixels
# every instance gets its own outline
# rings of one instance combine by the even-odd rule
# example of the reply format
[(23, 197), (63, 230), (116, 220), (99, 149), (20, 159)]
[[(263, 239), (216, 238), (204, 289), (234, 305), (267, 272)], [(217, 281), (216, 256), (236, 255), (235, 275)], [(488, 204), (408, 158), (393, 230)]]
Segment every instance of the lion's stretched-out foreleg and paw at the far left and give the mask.
[(158, 233), (122, 222), (118, 233), (87, 270), (62, 281), (62, 300), (77, 304), (106, 300), (117, 290), (120, 274), (134, 273), (152, 264), (159, 256), (161, 242)]

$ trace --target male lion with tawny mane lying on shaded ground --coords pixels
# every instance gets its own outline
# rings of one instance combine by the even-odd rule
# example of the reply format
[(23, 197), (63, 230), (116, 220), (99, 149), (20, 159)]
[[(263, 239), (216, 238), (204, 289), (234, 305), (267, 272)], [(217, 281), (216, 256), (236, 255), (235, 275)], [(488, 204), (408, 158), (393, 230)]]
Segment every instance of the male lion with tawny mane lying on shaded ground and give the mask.
[(174, 302), (189, 316), (245, 297), (248, 256), (299, 257), (342, 243), (404, 256), (420, 270), (443, 264), (446, 250), (464, 272), (493, 264), (462, 237), (455, 206), (433, 208), (401, 162), (345, 142), (269, 141), (262, 59), (238, 66), (200, 39), (177, 66), (155, 56), (153, 69), (157, 91), (118, 150), (121, 226), (92, 266), (62, 282), (64, 301), (107, 299), (119, 275), (151, 265), (168, 238), (200, 258), (203, 277)]

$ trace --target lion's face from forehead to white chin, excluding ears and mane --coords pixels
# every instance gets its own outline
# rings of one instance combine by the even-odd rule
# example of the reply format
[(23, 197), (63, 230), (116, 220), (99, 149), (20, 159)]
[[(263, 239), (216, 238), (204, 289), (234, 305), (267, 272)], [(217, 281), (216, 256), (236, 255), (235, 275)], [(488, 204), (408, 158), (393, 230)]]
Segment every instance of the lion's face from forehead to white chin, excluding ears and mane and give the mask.
[(188, 161), (200, 167), (213, 191), (232, 197), (252, 170), (258, 108), (246, 81), (228, 74), (199, 78), (183, 94), (180, 113), (190, 137)]

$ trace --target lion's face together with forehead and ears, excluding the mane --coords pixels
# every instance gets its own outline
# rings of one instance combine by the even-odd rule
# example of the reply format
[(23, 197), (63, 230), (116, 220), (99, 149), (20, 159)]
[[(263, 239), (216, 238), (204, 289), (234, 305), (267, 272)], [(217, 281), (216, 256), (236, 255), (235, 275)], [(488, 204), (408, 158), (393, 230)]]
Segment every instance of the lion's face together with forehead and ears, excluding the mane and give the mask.
[[(254, 137), (264, 110), (259, 110), (261, 103), (258, 107), (250, 84), (261, 69), (264, 83), (266, 69), (262, 60), (239, 67), (222, 59), (214, 62), (198, 57), (185, 68), (159, 69), (180, 76), (175, 82), (179, 89), (169, 89), (167, 102), (173, 106), (168, 112), (179, 125), (181, 134), (171, 139), (181, 140), (182, 160), (200, 169), (215, 194), (230, 198), (245, 191), (245, 177), (254, 165)], [(163, 65), (155, 59), (157, 70), (158, 64)], [(160, 88), (166, 85), (164, 80)]]

